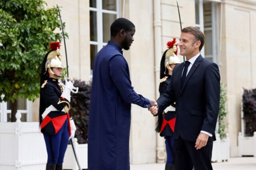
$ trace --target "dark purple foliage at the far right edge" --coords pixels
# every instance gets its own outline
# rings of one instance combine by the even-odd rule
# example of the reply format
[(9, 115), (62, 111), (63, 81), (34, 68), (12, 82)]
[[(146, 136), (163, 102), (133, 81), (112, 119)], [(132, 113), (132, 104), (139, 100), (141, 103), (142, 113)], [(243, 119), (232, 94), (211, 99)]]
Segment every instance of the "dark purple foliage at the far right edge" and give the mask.
[(256, 89), (246, 90), (243, 94), (243, 112), (245, 120), (245, 136), (253, 136), (256, 131)]

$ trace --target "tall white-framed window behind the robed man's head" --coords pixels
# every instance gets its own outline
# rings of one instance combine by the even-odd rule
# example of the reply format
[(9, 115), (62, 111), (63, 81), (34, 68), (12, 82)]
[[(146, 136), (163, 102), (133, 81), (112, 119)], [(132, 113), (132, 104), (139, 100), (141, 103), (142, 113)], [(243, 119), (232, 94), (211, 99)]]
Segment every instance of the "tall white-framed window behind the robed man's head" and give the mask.
[(119, 17), (118, 0), (90, 0), (91, 71), (97, 52), (110, 40), (110, 25)]

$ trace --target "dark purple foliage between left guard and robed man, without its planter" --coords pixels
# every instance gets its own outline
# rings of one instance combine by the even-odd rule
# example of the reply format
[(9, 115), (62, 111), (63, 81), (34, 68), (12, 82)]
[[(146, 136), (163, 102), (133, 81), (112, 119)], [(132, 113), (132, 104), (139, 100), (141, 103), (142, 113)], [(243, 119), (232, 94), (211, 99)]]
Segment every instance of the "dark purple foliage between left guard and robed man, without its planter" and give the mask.
[(79, 144), (87, 143), (89, 107), (91, 99), (91, 82), (75, 80), (74, 86), (78, 87), (78, 93), (71, 94), (70, 110), (75, 125), (75, 137)]

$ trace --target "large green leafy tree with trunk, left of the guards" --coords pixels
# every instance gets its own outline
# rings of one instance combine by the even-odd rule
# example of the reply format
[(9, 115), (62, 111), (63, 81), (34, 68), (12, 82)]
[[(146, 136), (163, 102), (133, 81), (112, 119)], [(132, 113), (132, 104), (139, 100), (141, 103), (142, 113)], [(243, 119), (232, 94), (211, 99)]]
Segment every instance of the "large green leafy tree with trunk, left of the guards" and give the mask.
[(46, 6), (43, 0), (0, 1), (0, 102), (12, 101), (11, 122), (18, 97), (39, 97), (43, 57), (49, 42), (62, 38), (55, 31), (61, 30), (58, 8)]

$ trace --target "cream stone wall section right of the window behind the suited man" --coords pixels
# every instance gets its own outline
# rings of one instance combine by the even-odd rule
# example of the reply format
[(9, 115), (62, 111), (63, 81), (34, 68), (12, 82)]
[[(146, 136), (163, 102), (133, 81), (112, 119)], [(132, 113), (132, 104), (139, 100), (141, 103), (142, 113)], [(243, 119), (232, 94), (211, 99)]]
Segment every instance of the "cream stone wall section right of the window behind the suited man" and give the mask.
[(256, 88), (256, 1), (225, 1), (221, 51), (222, 82), (227, 84), (231, 156), (241, 131), (242, 88)]

